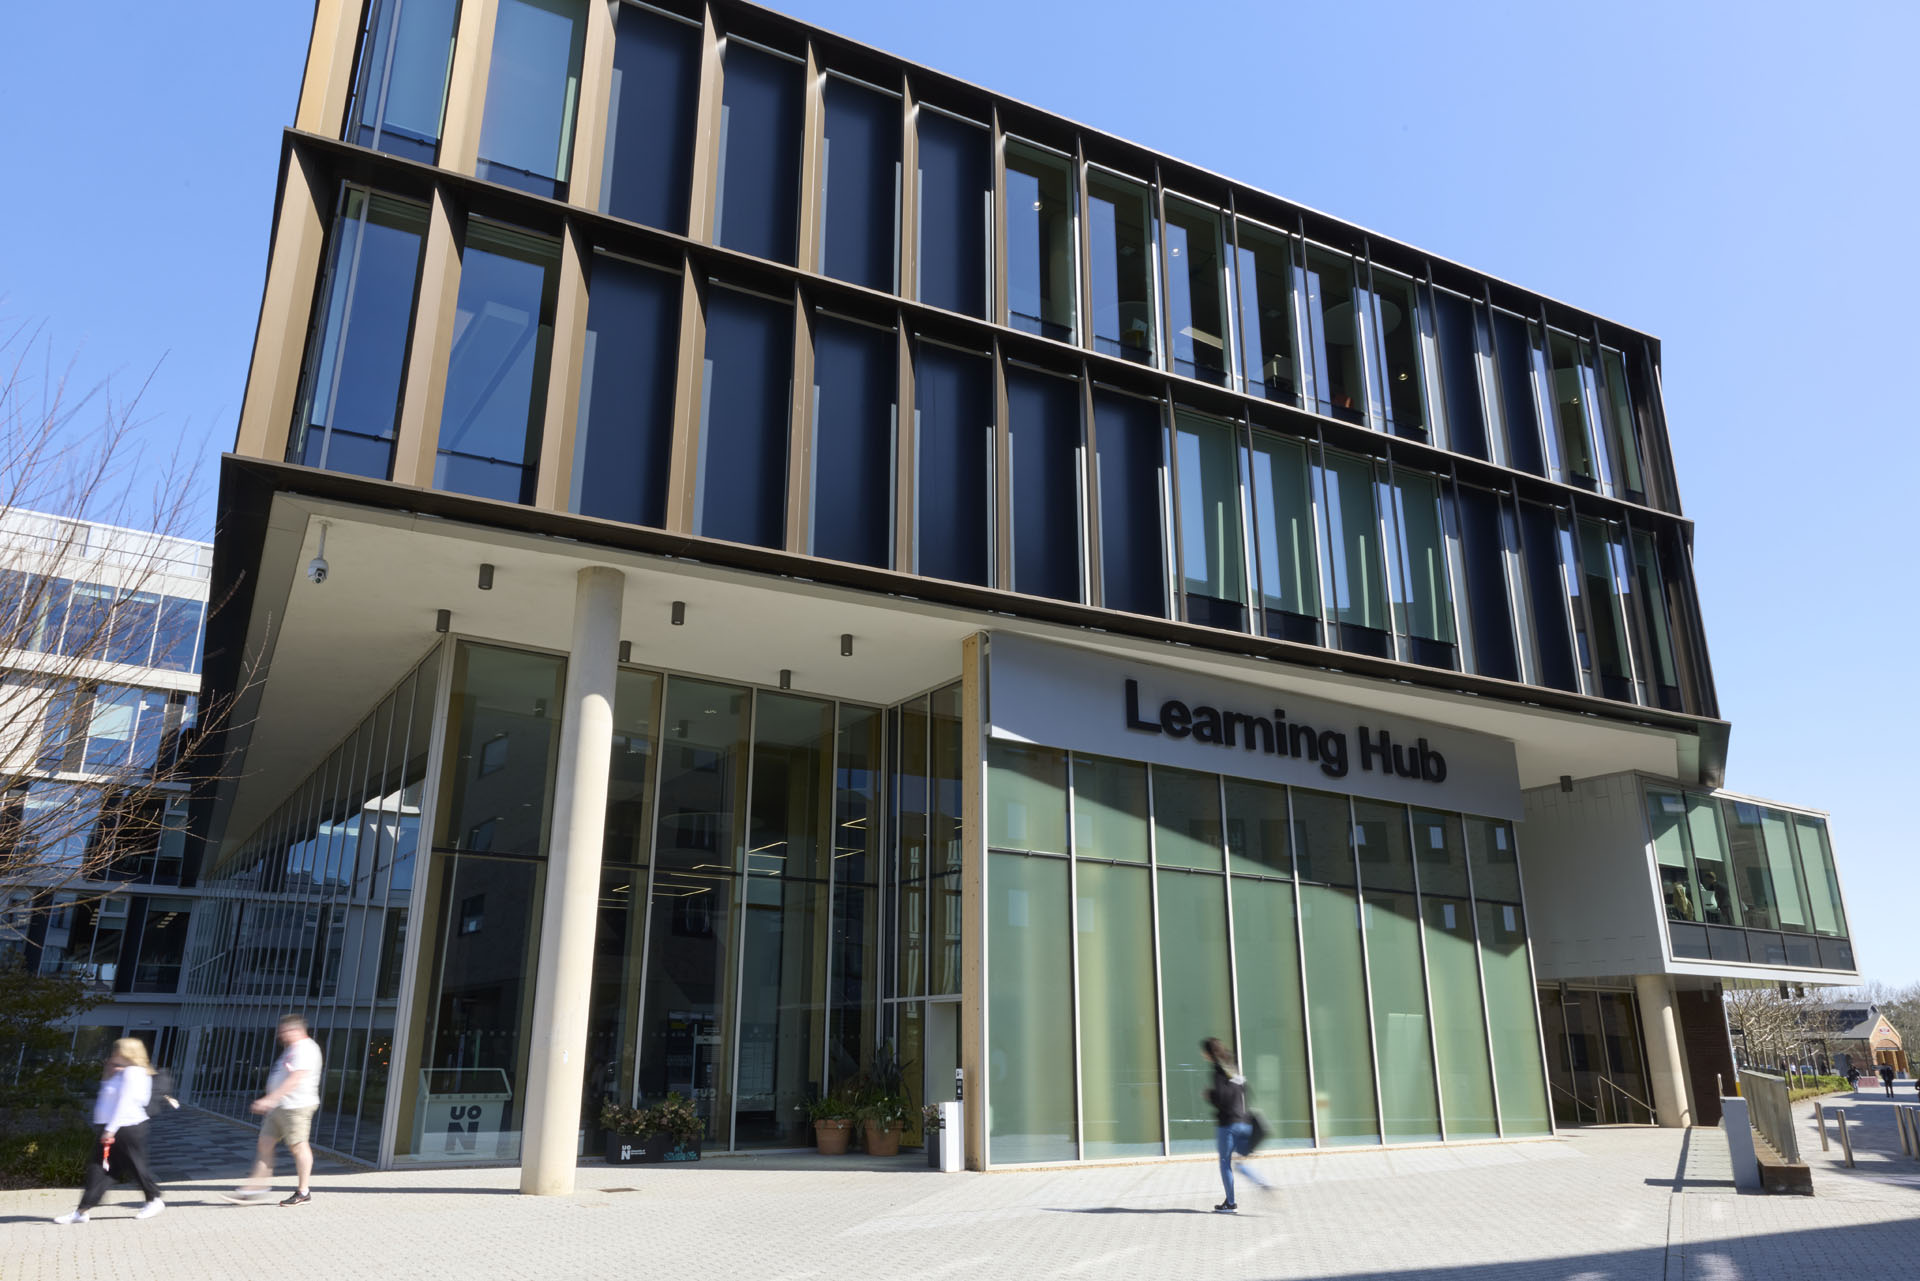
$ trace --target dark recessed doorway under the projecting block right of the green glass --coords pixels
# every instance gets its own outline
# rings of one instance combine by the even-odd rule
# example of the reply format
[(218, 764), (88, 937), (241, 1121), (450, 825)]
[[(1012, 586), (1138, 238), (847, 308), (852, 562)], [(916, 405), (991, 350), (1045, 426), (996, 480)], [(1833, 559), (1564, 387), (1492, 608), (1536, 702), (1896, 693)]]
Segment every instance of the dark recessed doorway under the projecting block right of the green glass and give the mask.
[(1557, 1125), (1653, 1124), (1634, 993), (1542, 987), (1540, 1026)]

